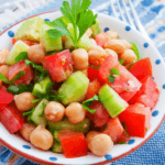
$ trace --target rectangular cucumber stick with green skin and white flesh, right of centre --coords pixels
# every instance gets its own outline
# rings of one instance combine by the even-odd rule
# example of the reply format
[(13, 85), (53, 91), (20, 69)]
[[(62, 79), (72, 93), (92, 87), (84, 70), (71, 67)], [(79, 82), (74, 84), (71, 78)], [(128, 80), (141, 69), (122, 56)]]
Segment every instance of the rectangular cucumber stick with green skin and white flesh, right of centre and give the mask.
[(99, 90), (99, 99), (112, 118), (116, 118), (129, 106), (117, 91), (108, 85), (103, 85)]

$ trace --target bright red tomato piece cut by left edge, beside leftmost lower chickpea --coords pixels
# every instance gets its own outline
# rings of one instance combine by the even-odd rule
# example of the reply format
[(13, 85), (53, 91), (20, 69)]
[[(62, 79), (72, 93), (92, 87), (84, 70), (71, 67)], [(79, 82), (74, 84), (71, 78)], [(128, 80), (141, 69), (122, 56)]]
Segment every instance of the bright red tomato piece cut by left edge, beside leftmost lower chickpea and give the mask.
[(9, 105), (11, 101), (13, 101), (13, 95), (4, 91), (4, 90), (0, 90), (0, 109), (7, 105)]

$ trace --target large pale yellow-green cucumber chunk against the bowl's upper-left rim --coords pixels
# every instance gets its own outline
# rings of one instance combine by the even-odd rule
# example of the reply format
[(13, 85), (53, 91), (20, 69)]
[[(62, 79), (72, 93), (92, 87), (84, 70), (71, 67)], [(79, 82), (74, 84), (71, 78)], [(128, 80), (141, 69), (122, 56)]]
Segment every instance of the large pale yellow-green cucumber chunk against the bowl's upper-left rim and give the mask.
[(44, 20), (40, 16), (29, 19), (22, 23), (14, 37), (30, 41), (40, 41), (40, 29), (43, 23)]

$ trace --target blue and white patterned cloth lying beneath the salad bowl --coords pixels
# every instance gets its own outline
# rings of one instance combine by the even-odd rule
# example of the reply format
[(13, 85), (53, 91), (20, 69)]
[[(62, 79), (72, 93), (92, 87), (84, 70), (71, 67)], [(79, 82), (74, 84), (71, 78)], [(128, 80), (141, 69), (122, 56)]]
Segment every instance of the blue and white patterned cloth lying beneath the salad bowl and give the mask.
[[(143, 26), (165, 59), (165, 6), (162, 1), (132, 0)], [(61, 4), (62, 1), (52, 0), (42, 8), (29, 13), (26, 18), (46, 11), (58, 10)], [(121, 0), (120, 4), (122, 6)], [(95, 11), (113, 15), (109, 0), (92, 0), (90, 8)], [(120, 15), (119, 19), (121, 19)], [(3, 30), (6, 29), (7, 28)], [(0, 162), (6, 163), (11, 154), (12, 152), (10, 152), (7, 147), (3, 146), (0, 148)], [(20, 157), (15, 164), (36, 165), (35, 163), (32, 163), (23, 157)], [(130, 155), (113, 162), (112, 165), (165, 165), (165, 121), (155, 135), (152, 136), (143, 146)]]

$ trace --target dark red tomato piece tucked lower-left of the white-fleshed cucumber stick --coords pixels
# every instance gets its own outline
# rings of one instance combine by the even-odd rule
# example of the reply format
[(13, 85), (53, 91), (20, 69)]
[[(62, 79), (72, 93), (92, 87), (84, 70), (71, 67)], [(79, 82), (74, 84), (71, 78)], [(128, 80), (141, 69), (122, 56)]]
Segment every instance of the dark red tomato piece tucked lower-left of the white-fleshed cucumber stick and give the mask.
[(103, 127), (110, 118), (103, 105), (100, 101), (94, 101), (89, 107), (96, 109), (96, 112), (92, 114), (87, 111), (87, 117), (95, 123), (95, 127)]

